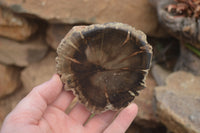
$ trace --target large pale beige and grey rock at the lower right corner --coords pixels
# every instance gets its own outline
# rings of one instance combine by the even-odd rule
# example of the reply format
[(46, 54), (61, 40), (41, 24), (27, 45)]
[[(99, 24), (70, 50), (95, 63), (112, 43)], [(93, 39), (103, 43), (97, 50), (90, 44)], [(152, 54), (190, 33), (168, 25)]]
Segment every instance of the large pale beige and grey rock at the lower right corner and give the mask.
[(157, 113), (174, 133), (200, 132), (200, 77), (184, 71), (174, 72), (166, 86), (157, 87)]

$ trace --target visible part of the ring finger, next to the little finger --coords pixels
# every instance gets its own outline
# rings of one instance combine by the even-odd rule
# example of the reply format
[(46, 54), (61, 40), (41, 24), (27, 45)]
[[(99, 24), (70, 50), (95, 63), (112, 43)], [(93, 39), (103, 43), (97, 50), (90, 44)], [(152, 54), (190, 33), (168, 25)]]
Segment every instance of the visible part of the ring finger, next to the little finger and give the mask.
[(107, 111), (94, 116), (86, 123), (85, 128), (89, 133), (101, 133), (113, 120), (116, 112)]

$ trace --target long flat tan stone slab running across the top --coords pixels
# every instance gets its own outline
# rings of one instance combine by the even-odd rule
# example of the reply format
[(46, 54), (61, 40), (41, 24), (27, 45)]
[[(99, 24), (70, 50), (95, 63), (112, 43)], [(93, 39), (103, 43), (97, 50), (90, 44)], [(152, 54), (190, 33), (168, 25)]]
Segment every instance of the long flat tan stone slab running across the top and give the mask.
[(163, 36), (155, 9), (148, 0), (0, 0), (18, 13), (33, 14), (50, 22), (122, 22), (148, 35)]

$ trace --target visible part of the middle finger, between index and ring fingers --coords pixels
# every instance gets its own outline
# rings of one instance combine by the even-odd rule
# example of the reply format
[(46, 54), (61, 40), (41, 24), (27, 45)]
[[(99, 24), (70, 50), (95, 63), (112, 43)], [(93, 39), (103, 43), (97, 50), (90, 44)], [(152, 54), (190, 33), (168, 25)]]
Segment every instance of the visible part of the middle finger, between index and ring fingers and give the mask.
[(89, 118), (90, 112), (86, 109), (86, 107), (80, 103), (76, 104), (76, 106), (71, 110), (69, 116), (79, 122), (80, 124), (84, 124), (85, 121)]

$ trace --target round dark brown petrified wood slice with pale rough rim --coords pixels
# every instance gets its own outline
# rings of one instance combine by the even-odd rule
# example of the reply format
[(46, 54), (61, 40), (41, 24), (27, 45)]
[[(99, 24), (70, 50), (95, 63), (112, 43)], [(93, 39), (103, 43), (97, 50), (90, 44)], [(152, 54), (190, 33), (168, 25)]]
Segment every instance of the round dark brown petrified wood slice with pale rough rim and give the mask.
[(145, 87), (152, 48), (122, 23), (76, 26), (57, 49), (57, 73), (92, 113), (119, 110)]

